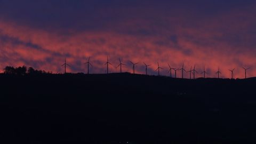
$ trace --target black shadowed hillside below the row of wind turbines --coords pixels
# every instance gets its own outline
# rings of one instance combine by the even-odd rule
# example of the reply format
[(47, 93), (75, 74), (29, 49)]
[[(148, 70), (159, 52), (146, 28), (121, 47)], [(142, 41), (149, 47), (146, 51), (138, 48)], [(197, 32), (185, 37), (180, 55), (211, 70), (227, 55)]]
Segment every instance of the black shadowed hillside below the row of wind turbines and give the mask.
[(0, 75), (0, 143), (255, 143), (256, 79)]

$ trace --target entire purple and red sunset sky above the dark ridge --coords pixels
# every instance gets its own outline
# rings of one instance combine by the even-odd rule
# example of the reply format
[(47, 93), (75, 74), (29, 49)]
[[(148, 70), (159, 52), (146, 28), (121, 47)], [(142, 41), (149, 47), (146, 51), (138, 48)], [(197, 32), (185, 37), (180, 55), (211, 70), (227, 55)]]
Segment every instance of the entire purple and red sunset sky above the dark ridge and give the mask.
[[(242, 67), (256, 76), (256, 2), (240, 0), (0, 0), (0, 69), (34, 67), (63, 73), (106, 73), (107, 56), (119, 71), (118, 58), (140, 62), (135, 72), (157, 75), (157, 62), (189, 70), (196, 65), (202, 77), (244, 77)], [(3, 71), (3, 70), (2, 70)], [(181, 76), (177, 71), (177, 77)], [(189, 73), (185, 74), (189, 77)]]

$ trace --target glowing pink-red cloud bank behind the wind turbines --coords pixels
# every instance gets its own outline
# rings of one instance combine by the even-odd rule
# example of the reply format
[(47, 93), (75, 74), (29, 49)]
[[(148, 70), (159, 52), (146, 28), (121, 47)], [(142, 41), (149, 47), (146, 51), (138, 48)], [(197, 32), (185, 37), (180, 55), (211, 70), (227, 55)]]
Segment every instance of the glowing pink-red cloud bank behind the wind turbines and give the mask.
[[(234, 13), (238, 13), (234, 15)], [(0, 21), (0, 36), (18, 39), (22, 43), (12, 41), (0, 41), (1, 50), (0, 67), (6, 65), (33, 66), (54, 73), (61, 73), (65, 56), (71, 65), (68, 71), (73, 73), (85, 72), (83, 63), (91, 57), (93, 63), (92, 73), (105, 73), (107, 55), (113, 63), (110, 67), (116, 71), (118, 58), (127, 63), (124, 71), (132, 70), (129, 60), (140, 62), (136, 73), (145, 73), (142, 61), (151, 64), (150, 74), (157, 68), (157, 62), (164, 68), (162, 75), (168, 75), (167, 63), (172, 67), (180, 68), (185, 63), (185, 68), (196, 65), (197, 71), (203, 67), (208, 70), (209, 77), (216, 77), (215, 72), (221, 68), (222, 77), (230, 77), (228, 69), (235, 69), (235, 77), (244, 77), (245, 67), (256, 64), (251, 43), (251, 35), (244, 31), (250, 30), (252, 22), (255, 22), (246, 12), (229, 12), (218, 17), (194, 22), (194, 25), (184, 24), (184, 18), (169, 18), (170, 28), (161, 28), (151, 25), (148, 20), (133, 19), (118, 26), (116, 30), (76, 31), (67, 29), (62, 35), (62, 30), (42, 30), (18, 25), (18, 23), (6, 20)], [(245, 19), (245, 22), (235, 23), (236, 19)], [(189, 18), (188, 18), (189, 19)], [(172, 22), (181, 22), (171, 24)], [(131, 33), (121, 33), (127, 28)], [(133, 29), (133, 30), (131, 30)], [(140, 29), (149, 30), (147, 34)], [(136, 34), (138, 33), (138, 35)], [(141, 33), (141, 35), (140, 35)], [(239, 42), (234, 42), (235, 35)], [(171, 36), (174, 36), (172, 38)], [(171, 38), (170, 38), (171, 37)], [(231, 39), (230, 39), (231, 37)], [(236, 44), (239, 44), (238, 46)], [(29, 45), (31, 44), (31, 45)], [(33, 47), (35, 46), (35, 47)], [(244, 47), (241, 47), (244, 46)], [(118, 69), (117, 69), (118, 71)], [(188, 77), (189, 74), (185, 74)], [(180, 76), (180, 72), (178, 73)], [(197, 74), (197, 77), (203, 75)], [(248, 71), (248, 76), (256, 76), (256, 70)]]

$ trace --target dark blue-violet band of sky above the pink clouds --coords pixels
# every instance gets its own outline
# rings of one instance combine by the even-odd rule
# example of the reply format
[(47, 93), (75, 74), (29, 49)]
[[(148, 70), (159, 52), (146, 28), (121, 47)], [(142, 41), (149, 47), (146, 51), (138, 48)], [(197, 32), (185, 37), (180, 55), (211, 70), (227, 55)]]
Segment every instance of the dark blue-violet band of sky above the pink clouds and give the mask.
[(157, 21), (166, 17), (215, 17), (248, 9), (255, 1), (0, 1), (0, 17), (38, 28), (101, 29), (130, 19)]

